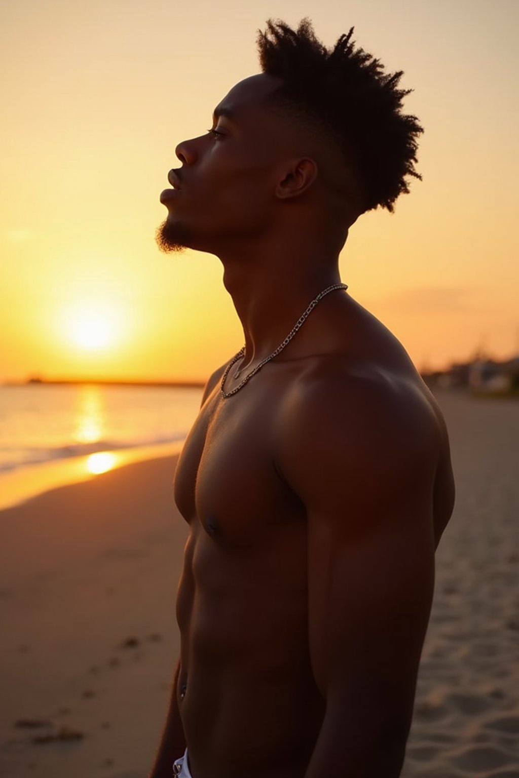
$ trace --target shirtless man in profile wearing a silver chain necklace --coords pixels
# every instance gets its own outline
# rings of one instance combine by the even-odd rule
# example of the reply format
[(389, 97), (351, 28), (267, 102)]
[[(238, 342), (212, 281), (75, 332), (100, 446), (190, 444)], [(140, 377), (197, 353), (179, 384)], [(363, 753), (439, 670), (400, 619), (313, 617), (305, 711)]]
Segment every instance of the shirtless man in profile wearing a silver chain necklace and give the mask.
[(161, 247), (220, 258), (245, 346), (177, 465), (181, 656), (150, 776), (397, 778), (454, 484), (437, 404), (338, 254), (417, 176), (421, 128), (351, 33), (330, 55), (268, 23), (258, 45), (161, 195)]

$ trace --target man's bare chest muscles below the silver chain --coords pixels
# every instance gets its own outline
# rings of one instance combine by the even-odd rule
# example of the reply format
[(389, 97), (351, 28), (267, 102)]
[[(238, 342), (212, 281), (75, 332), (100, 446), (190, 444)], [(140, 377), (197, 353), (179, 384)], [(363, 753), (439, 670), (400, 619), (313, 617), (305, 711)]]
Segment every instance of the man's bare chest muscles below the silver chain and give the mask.
[(249, 391), (209, 398), (177, 464), (175, 502), (188, 521), (210, 534), (247, 542), (294, 511), (294, 497), (275, 470), (275, 407)]

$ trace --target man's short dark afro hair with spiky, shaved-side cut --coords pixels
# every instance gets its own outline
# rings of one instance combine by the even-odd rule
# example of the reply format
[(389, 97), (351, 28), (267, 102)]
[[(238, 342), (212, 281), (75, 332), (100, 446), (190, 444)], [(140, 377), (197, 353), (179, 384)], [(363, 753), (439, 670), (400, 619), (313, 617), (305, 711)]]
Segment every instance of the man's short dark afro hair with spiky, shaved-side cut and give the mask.
[(398, 195), (409, 192), (406, 177), (415, 170), (417, 138), (423, 128), (416, 116), (402, 114), (398, 89), (402, 71), (385, 73), (380, 61), (356, 48), (353, 27), (327, 49), (315, 37), (309, 19), (297, 30), (272, 19), (258, 31), (261, 69), (282, 80), (276, 96), (335, 136), (352, 164), (363, 191), (363, 210), (381, 205), (388, 211)]

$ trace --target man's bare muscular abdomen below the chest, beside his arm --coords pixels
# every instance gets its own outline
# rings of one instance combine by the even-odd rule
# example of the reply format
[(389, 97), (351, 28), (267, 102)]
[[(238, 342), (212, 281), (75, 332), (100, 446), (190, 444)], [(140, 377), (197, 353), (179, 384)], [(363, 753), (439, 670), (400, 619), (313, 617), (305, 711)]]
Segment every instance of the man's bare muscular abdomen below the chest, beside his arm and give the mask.
[(303, 775), (324, 715), (306, 582), (304, 525), (248, 552), (191, 527), (177, 598), (178, 703), (194, 778)]

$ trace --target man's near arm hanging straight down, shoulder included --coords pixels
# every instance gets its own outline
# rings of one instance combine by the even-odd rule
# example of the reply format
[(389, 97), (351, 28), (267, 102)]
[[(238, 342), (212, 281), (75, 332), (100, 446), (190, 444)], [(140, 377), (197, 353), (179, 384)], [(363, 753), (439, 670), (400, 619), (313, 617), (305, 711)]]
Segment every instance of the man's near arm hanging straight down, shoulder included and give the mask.
[(397, 778), (434, 580), (439, 442), (381, 379), (294, 391), (276, 462), (307, 508), (310, 660), (326, 699), (306, 778)]

